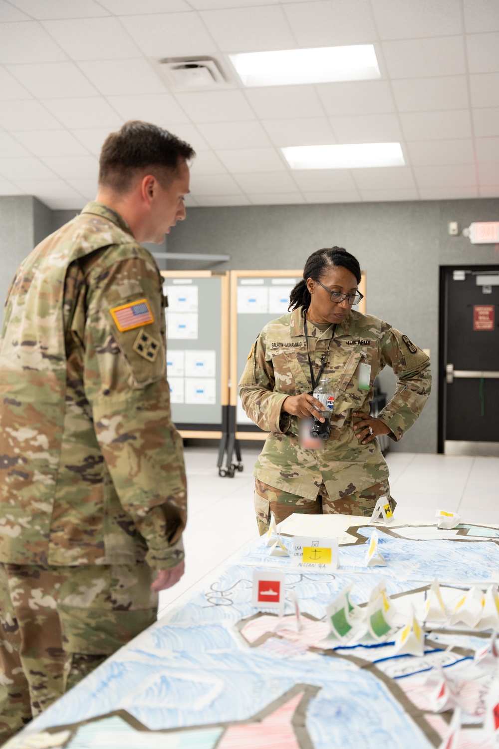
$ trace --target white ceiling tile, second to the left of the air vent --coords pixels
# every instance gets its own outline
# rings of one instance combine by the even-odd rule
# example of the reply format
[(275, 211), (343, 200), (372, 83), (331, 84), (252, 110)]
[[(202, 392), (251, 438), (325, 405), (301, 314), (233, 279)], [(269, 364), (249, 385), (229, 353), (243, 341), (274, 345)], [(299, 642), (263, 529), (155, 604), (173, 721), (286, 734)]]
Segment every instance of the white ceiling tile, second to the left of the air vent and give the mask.
[(9, 65), (7, 69), (28, 91), (31, 91), (31, 94), (39, 99), (97, 96), (99, 94), (74, 62)]

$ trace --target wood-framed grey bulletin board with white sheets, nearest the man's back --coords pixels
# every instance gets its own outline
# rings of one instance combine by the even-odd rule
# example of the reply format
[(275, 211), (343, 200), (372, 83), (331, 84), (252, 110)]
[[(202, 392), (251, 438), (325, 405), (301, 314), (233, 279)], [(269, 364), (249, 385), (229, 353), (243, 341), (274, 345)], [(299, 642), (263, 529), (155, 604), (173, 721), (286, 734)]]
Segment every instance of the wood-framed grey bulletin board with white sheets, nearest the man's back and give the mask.
[(163, 270), (171, 419), (180, 436), (220, 440), (229, 402), (229, 278)]

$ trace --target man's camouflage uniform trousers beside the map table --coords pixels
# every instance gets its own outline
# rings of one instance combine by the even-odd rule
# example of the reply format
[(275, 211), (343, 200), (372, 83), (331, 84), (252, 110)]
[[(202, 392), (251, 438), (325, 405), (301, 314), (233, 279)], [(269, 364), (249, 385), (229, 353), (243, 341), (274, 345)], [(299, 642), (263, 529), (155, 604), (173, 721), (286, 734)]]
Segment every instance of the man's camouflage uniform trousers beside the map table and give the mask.
[(0, 745), (156, 621), (153, 570), (0, 564)]

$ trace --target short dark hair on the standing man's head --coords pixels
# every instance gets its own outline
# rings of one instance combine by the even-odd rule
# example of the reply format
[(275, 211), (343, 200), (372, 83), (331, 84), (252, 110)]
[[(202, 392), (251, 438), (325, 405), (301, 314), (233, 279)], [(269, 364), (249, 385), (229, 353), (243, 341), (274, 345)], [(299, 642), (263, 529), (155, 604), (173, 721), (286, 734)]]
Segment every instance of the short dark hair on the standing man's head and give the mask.
[(100, 151), (99, 184), (115, 192), (128, 192), (138, 173), (150, 169), (166, 187), (177, 175), (180, 163), (195, 155), (189, 143), (168, 130), (131, 120), (105, 139)]

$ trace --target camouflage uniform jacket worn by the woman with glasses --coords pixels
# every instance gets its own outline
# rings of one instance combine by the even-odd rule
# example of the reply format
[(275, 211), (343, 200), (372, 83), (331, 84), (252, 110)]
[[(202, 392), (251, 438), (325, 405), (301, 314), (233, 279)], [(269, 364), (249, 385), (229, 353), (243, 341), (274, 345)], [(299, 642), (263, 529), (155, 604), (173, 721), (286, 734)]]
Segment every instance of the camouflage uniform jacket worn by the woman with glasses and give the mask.
[[(394, 398), (379, 419), (391, 429), (392, 439), (399, 440), (414, 424), (429, 396), (429, 358), (388, 323), (352, 311), (336, 328), (324, 370), (335, 398), (331, 437), (322, 450), (304, 449), (299, 443), (298, 417), (281, 413), (287, 395), (312, 389), (302, 313), (300, 307), (263, 328), (239, 382), (245, 412), (260, 429), (271, 432), (254, 476), (310, 500), (315, 499), (324, 482), (329, 497), (336, 500), (388, 477), (377, 441), (362, 445), (355, 437), (352, 412), (369, 413), (373, 382), (388, 364), (399, 381)], [(310, 360), (317, 373), (332, 327), (321, 333), (310, 323), (308, 326)], [(359, 388), (361, 361), (371, 366), (369, 390)]]

